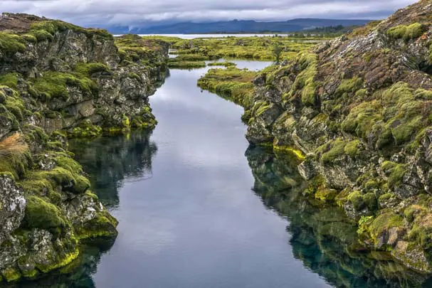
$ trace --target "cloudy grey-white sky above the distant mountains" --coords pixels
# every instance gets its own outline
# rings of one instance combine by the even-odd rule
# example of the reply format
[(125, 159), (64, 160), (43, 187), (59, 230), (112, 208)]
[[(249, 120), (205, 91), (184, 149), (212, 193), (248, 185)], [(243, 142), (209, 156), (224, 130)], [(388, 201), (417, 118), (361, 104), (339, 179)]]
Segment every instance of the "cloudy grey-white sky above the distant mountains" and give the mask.
[(234, 18), (384, 18), (416, 0), (0, 0), (0, 11), (60, 18), (79, 25), (125, 25), (160, 21)]

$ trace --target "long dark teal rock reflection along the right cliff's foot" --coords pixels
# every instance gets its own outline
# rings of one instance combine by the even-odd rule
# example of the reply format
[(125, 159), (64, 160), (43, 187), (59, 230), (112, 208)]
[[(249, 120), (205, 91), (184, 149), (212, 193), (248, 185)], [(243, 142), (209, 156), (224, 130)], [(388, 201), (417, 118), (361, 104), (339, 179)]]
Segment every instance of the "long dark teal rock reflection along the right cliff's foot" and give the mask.
[(428, 275), (408, 270), (385, 252), (357, 245), (357, 228), (342, 209), (304, 194), (307, 183), (294, 155), (249, 147), (246, 151), (263, 204), (288, 219), (295, 258), (334, 287), (431, 287)]

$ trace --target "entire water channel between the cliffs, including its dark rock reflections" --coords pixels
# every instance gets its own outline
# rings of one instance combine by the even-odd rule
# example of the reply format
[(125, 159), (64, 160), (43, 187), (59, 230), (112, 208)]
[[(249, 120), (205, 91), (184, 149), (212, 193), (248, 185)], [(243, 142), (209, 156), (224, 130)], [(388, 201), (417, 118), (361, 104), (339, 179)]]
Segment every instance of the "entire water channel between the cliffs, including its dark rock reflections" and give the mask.
[(71, 142), (118, 238), (20, 287), (428, 287), (385, 254), (354, 252), (354, 225), (302, 196), (296, 160), (248, 147), (241, 107), (196, 87), (206, 70), (171, 71), (151, 98), (153, 133)]

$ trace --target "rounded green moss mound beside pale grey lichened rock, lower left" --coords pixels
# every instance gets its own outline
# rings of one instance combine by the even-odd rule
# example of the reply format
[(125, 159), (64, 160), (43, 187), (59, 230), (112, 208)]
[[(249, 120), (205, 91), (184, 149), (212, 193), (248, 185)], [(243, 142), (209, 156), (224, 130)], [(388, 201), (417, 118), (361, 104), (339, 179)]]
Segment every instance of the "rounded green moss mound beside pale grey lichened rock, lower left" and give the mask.
[(26, 214), (23, 226), (28, 229), (45, 229), (58, 237), (61, 228), (66, 225), (58, 208), (37, 196), (28, 196), (26, 201)]

